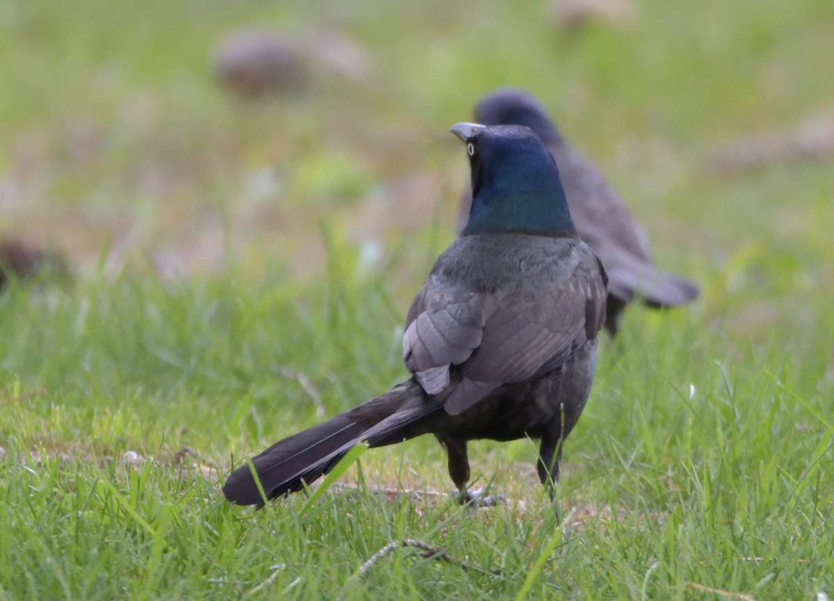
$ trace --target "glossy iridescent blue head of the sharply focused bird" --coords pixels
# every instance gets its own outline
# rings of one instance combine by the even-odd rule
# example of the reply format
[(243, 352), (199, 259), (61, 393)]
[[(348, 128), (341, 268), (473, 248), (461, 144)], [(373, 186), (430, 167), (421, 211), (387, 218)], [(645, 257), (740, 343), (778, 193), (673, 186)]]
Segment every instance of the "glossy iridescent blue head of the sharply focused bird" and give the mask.
[(545, 145), (519, 125), (457, 124), (472, 169), (472, 209), (461, 235), (575, 232), (559, 171)]

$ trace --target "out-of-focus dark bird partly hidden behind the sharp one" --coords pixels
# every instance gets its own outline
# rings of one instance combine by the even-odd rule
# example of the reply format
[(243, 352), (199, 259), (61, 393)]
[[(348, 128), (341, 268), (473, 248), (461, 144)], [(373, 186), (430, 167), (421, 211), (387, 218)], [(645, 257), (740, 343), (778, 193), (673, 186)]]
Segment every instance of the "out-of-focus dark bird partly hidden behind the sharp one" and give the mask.
[[(480, 99), (475, 107), (475, 121), (485, 125), (525, 125), (550, 150), (559, 167), (576, 231), (608, 272), (605, 329), (612, 336), (619, 327), (621, 311), (635, 295), (651, 307), (679, 306), (697, 298), (700, 290), (695, 282), (654, 268), (646, 234), (620, 196), (594, 164), (565, 142), (538, 100), (520, 90), (498, 89)], [(472, 194), (466, 190), (459, 229), (469, 217), (471, 204)]]

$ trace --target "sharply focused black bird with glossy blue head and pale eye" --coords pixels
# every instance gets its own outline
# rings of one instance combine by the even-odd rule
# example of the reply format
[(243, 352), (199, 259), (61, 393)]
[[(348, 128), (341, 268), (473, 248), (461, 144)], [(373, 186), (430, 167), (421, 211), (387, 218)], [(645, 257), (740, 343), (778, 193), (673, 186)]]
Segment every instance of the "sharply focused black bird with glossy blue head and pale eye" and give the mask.
[[(466, 443), (540, 438), (541, 482), (559, 476), (561, 442), (580, 417), (605, 321), (605, 270), (576, 235), (553, 159), (530, 129), (457, 124), (475, 202), (405, 321), (408, 381), (276, 442), (252, 463), (266, 498), (298, 491), (360, 441), (370, 447), (434, 434), (469, 499)], [(249, 464), (223, 487), (262, 505)]]

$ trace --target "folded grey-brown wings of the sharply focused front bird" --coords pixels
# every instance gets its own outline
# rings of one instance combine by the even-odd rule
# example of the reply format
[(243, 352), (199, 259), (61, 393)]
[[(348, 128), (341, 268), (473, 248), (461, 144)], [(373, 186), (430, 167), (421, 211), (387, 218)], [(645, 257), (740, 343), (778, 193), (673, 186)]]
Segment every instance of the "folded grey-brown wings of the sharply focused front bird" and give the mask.
[(403, 356), (429, 394), (449, 386), (450, 370), (459, 371), (447, 412), (464, 412), (502, 384), (556, 369), (596, 335), (601, 323), (587, 321), (605, 311), (600, 264), (578, 242), (563, 259), (553, 281), (520, 274), (503, 290), (467, 290), (433, 271), (409, 311)]

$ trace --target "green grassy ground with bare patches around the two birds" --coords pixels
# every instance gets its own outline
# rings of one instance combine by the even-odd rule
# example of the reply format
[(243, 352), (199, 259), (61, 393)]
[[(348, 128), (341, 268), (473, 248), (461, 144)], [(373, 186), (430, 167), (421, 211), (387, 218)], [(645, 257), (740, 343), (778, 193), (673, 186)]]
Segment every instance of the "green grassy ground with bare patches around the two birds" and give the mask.
[[(78, 271), (0, 295), (0, 599), (830, 596), (831, 159), (706, 158), (831, 114), (834, 7), (636, 11), (568, 32), (542, 3), (0, 5), (0, 233)], [(356, 69), (234, 98), (211, 52), (251, 23), (347, 44)], [(430, 439), (364, 453), (313, 502), (229, 507), (233, 460), (404, 376), (399, 328), (466, 176), (445, 130), (503, 84), (545, 100), (704, 291), (604, 345), (564, 522), (526, 441), (470, 452), (501, 508), (452, 503)], [(435, 553), (360, 572), (404, 539)]]

